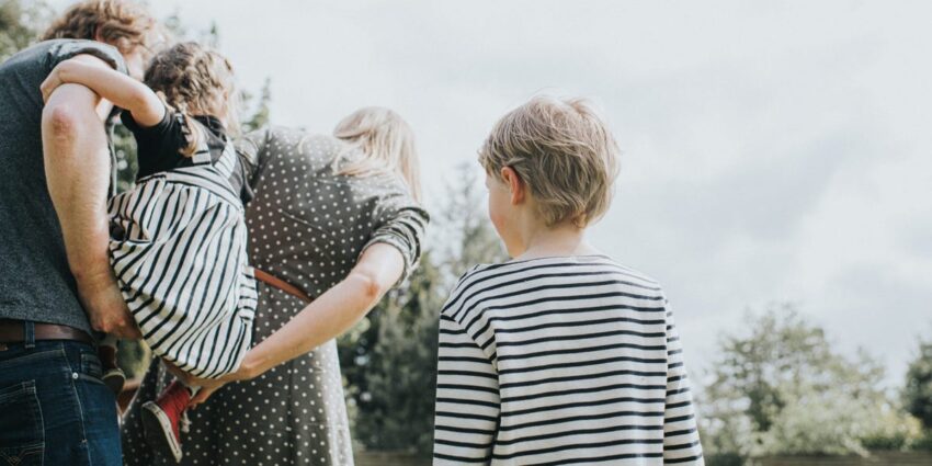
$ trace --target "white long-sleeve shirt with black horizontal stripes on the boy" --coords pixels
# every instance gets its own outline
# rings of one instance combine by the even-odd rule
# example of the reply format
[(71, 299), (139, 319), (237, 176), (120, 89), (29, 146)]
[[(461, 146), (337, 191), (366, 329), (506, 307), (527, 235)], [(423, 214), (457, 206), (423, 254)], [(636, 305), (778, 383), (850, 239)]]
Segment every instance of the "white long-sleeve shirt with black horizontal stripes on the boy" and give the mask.
[(663, 292), (609, 258), (473, 269), (437, 371), (435, 465), (703, 464)]

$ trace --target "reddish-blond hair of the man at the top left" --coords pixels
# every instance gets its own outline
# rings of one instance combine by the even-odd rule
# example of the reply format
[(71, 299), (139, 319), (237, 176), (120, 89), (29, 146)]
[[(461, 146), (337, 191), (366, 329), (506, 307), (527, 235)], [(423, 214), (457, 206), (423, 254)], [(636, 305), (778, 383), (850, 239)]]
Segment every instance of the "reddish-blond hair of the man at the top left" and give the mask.
[[(42, 35), (53, 38), (101, 38), (121, 53), (137, 46), (151, 49), (157, 34), (156, 20), (140, 4), (126, 0), (88, 0), (58, 16)], [(160, 30), (158, 32), (161, 32)]]

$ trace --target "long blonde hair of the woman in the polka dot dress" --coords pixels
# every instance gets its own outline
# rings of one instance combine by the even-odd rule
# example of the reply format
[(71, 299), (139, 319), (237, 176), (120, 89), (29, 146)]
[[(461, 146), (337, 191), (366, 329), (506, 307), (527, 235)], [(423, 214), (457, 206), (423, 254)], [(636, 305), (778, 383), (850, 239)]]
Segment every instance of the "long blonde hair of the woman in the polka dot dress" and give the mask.
[[(340, 174), (397, 173), (408, 183), (411, 196), (421, 200), (421, 179), (414, 133), (400, 115), (379, 106), (360, 109), (343, 118), (333, 136), (349, 147), (333, 160)], [(360, 150), (362, 158), (341, 166), (346, 155)]]

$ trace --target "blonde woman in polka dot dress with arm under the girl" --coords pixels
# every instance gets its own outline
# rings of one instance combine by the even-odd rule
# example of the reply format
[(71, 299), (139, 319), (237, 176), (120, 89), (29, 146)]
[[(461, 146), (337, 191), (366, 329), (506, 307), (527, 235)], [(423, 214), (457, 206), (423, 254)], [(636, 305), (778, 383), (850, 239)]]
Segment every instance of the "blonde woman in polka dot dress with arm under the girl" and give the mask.
[[(417, 202), (411, 130), (389, 110), (363, 109), (334, 137), (262, 129), (239, 149), (255, 190), (247, 209), (251, 263), (298, 289), (259, 284), (257, 345), (237, 373), (220, 379), (242, 382), (214, 393), (214, 380), (189, 380), (205, 388), (181, 434), (181, 463), (351, 465), (333, 338), (420, 257), (428, 214)], [(300, 293), (312, 302), (295, 296)], [(130, 465), (174, 464), (151, 453), (139, 422), (138, 400), (170, 379), (160, 367), (150, 366), (124, 420)]]

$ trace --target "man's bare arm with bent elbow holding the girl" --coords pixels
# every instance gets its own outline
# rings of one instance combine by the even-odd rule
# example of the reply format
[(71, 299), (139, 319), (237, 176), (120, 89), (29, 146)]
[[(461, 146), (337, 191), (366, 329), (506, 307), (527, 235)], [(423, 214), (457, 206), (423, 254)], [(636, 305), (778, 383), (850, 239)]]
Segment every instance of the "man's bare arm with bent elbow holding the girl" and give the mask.
[(83, 86), (64, 84), (52, 93), (42, 113), (45, 175), (91, 325), (138, 338), (107, 258), (110, 154), (100, 106), (100, 96)]

